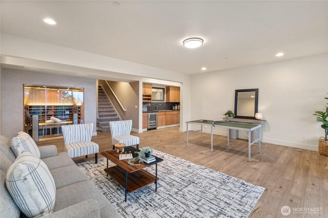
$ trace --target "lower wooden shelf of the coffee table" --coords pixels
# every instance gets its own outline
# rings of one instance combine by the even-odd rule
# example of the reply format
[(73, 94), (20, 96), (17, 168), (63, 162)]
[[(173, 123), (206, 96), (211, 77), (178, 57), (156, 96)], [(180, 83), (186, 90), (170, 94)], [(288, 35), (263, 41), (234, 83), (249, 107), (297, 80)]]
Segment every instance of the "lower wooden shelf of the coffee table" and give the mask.
[[(113, 179), (115, 179), (121, 186), (125, 187), (125, 171), (119, 166), (112, 166), (104, 169), (104, 171), (110, 175)], [(139, 171), (135, 171), (133, 173), (128, 173), (128, 192), (136, 191), (146, 185), (155, 182), (155, 176), (148, 173), (144, 169), (140, 169)], [(158, 178), (157, 178), (158, 181)]]

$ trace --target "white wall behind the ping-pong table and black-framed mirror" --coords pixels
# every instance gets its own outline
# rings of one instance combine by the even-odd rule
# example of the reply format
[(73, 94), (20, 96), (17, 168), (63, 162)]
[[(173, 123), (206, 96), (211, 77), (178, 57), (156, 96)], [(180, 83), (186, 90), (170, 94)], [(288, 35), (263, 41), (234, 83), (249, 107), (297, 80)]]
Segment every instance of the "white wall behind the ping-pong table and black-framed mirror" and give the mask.
[(258, 111), (267, 120), (263, 141), (317, 150), (324, 131), (312, 114), (325, 108), (327, 60), (323, 54), (194, 75), (192, 119), (220, 119), (233, 110), (235, 89), (259, 88)]

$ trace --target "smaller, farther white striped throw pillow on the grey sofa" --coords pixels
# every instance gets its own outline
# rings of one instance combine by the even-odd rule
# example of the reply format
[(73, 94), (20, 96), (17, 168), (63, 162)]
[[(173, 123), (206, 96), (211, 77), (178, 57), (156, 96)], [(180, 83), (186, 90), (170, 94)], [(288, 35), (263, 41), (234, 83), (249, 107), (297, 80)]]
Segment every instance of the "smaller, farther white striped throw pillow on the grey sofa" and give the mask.
[(30, 151), (32, 154), (40, 157), (40, 151), (33, 138), (26, 132), (19, 132), (16, 137), (11, 139), (11, 150), (17, 157), (23, 151)]

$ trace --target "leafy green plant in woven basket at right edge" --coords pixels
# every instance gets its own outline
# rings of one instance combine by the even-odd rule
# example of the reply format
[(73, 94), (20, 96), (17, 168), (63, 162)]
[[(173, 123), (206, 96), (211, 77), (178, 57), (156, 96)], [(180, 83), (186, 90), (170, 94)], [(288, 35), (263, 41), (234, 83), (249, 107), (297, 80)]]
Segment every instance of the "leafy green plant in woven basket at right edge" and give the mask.
[[(328, 98), (325, 99), (328, 100)], [(326, 107), (325, 112), (315, 111), (313, 115), (317, 116), (317, 121), (322, 123), (321, 128), (324, 129), (325, 132), (325, 137), (319, 138), (319, 153), (328, 156), (328, 107)]]

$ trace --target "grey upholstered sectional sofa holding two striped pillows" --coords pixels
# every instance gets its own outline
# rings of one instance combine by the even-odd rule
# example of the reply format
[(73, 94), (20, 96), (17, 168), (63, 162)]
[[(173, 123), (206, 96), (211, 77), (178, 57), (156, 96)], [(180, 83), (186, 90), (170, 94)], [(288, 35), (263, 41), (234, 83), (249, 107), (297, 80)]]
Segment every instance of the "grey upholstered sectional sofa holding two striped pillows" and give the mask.
[[(55, 146), (38, 148), (56, 185), (54, 211), (47, 217), (121, 217), (67, 153), (57, 154)], [(0, 136), (0, 217), (24, 216), (6, 188), (6, 173), (15, 159), (10, 140)]]

